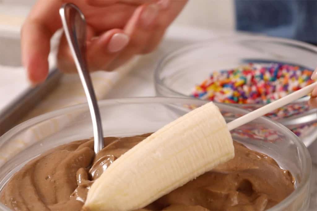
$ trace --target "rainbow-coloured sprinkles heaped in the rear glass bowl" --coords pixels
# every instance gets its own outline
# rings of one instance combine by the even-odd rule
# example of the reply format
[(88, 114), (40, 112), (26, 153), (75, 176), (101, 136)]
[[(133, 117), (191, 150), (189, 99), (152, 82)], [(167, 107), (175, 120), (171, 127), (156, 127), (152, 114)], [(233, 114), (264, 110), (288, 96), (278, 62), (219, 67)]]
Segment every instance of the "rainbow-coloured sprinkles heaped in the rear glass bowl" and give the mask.
[[(234, 69), (214, 71), (196, 86), (191, 96), (223, 103), (267, 104), (314, 83), (310, 79), (312, 73), (311, 70), (287, 64), (250, 63)], [(276, 120), (307, 110), (307, 102), (301, 102), (289, 104), (267, 116)]]

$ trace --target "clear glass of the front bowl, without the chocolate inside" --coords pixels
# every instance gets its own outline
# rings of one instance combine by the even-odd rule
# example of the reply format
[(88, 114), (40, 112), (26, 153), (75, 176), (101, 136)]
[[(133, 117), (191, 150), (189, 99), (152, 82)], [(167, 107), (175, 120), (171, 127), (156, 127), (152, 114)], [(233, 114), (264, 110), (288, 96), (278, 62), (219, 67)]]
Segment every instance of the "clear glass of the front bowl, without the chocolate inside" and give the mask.
[[(105, 136), (154, 132), (205, 102), (191, 98), (126, 98), (99, 102)], [(217, 104), (227, 122), (248, 111)], [(305, 210), (309, 204), (311, 158), (299, 138), (279, 123), (261, 117), (231, 131), (250, 149), (274, 158), (295, 178), (295, 190), (269, 210)], [(53, 147), (93, 136), (87, 104), (75, 105), (30, 119), (0, 137), (0, 191), (29, 160)], [(3, 204), (0, 210), (8, 211)]]

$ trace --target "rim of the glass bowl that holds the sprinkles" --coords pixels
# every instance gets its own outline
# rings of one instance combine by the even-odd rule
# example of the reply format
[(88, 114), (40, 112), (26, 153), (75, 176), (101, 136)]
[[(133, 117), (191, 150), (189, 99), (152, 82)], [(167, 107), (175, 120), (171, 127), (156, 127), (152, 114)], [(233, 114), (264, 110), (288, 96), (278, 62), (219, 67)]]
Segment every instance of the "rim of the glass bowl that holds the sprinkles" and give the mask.
[[(271, 36), (266, 36), (266, 35), (262, 35), (262, 34), (238, 34), (238, 35), (229, 35), (229, 36), (220, 36), (217, 38), (212, 38), (212, 39), (208, 39), (208, 40), (203, 40), (203, 41), (199, 41), (196, 42), (194, 44), (189, 44), (186, 45), (184, 47), (180, 47), (177, 50), (171, 51), (170, 53), (167, 53), (164, 57), (162, 57), (160, 59), (160, 61), (157, 63), (155, 70), (154, 70), (154, 86), (155, 86), (155, 90), (156, 93), (158, 94), (158, 85), (164, 87), (165, 89), (169, 90), (171, 93), (180, 96), (180, 97), (190, 97), (190, 96), (186, 96), (182, 93), (179, 93), (173, 89), (171, 89), (168, 86), (165, 86), (165, 84), (163, 83), (163, 81), (160, 79), (160, 74), (161, 72), (164, 70), (164, 64), (165, 62), (174, 57), (174, 56), (179, 56), (181, 53), (187, 52), (190, 49), (194, 49), (197, 47), (204, 47), (206, 45), (210, 45), (212, 43), (215, 43), (217, 41), (226, 41), (226, 40), (256, 40), (256, 41), (270, 41), (272, 43), (282, 43), (288, 46), (295, 46), (295, 47), (299, 47), (301, 49), (305, 49), (307, 51), (310, 51), (312, 53), (316, 53), (317, 55), (317, 47), (309, 44), (309, 43), (305, 43), (302, 41), (298, 41), (298, 40), (292, 40), (292, 39), (287, 39), (287, 38), (280, 38), (280, 37), (271, 37)], [(294, 102), (305, 102), (309, 100), (309, 96), (306, 97), (302, 97), (300, 99), (297, 99)], [(219, 104), (230, 104), (230, 103), (222, 103), (222, 102), (217, 102)], [(240, 107), (243, 105), (248, 105), (248, 106), (258, 106), (258, 105), (266, 105), (265, 103), (258, 103), (258, 104), (234, 104), (236, 107)], [(316, 110), (317, 109), (313, 109)]]

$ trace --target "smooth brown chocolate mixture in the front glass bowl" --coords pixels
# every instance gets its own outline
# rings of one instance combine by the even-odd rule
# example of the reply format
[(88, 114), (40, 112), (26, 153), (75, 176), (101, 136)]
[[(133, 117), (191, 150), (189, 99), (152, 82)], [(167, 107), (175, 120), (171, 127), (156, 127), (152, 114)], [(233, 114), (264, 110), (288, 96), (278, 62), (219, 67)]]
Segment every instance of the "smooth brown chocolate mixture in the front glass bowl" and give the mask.
[[(92, 139), (49, 150), (10, 179), (0, 193), (0, 202), (19, 211), (82, 210), (94, 180), (148, 135), (104, 138), (105, 147), (96, 156)], [(139, 211), (265, 210), (294, 191), (292, 175), (273, 158), (236, 141), (234, 147), (232, 160)]]

